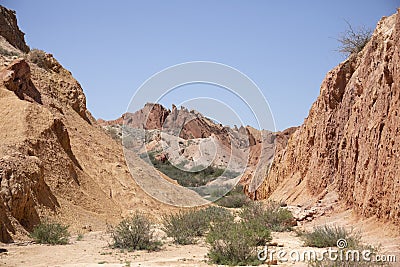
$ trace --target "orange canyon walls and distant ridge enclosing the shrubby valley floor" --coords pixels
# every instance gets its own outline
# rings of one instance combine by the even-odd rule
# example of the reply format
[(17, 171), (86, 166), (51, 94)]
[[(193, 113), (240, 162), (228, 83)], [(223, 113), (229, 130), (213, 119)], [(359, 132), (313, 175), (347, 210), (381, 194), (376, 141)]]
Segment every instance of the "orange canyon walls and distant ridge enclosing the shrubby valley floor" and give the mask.
[[(306, 229), (327, 221), (356, 226), (371, 243), (384, 229), (385, 248), (400, 253), (399, 11), (383, 17), (365, 47), (326, 74), (298, 127), (229, 127), (185, 107), (143, 104), (115, 120), (95, 119), (72, 73), (53, 55), (30, 49), (15, 12), (0, 6), (0, 242), (19, 251), (15, 244), (30, 242), (32, 229), (51, 218), (87, 234), (79, 249), (109, 253), (105, 229), (134, 211), (158, 222), (182, 207), (210, 204), (210, 192), (180, 185), (146, 160), (151, 155), (188, 170), (228, 170), (233, 177), (205, 185), (240, 184), (253, 201), (287, 206)], [(137, 130), (142, 135), (132, 135)], [(301, 246), (294, 233), (283, 237)], [(206, 265), (205, 244), (192, 249), (201, 252), (196, 263)], [(45, 250), (35, 244), (26, 251), (33, 257)], [(175, 266), (191, 266), (172, 255), (192, 257), (182, 250), (168, 245), (168, 255), (160, 254)], [(110, 261), (121, 256), (107, 255)], [(68, 262), (77, 263), (87, 262)]]

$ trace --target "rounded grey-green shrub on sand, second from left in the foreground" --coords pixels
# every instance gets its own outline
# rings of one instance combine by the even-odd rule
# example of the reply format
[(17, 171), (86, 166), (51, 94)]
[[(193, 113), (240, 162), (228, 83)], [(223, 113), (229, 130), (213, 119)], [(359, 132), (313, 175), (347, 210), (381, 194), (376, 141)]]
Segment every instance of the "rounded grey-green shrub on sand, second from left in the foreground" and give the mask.
[(128, 250), (157, 250), (161, 243), (153, 240), (150, 219), (136, 212), (110, 230), (112, 247)]

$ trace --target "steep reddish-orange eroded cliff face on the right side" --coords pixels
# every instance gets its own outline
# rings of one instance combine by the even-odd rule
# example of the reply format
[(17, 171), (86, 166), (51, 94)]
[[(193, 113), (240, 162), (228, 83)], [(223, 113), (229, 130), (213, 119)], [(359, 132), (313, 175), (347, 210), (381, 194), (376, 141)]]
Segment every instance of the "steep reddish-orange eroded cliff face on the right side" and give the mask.
[(289, 202), (336, 190), (364, 216), (400, 223), (400, 15), (331, 70), (308, 117), (278, 149), (255, 198)]

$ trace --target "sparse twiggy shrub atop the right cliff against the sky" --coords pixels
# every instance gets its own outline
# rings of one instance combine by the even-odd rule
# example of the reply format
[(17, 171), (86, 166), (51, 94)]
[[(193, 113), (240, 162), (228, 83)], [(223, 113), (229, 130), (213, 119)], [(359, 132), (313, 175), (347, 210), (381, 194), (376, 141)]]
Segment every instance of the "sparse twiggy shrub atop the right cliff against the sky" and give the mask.
[(365, 27), (360, 27), (354, 30), (347, 22), (347, 30), (342, 33), (337, 39), (340, 43), (339, 52), (346, 56), (360, 52), (371, 39), (372, 30)]

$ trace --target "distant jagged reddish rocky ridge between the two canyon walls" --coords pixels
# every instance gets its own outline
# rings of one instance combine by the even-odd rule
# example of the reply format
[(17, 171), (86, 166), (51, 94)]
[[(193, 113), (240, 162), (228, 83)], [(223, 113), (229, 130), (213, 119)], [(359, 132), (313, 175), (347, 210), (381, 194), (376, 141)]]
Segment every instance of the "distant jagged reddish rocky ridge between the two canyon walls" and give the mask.
[[(160, 104), (147, 103), (135, 113), (98, 122), (118, 141), (122, 140), (123, 125), (144, 129), (146, 145), (135, 149), (140, 154), (156, 153), (156, 160), (169, 160), (186, 170), (210, 165), (243, 173), (240, 183), (248, 194), (254, 194), (261, 183), (275, 151), (275, 133), (250, 126), (230, 128), (214, 123), (198, 111), (174, 105), (168, 110)], [(127, 142), (124, 146), (127, 147)]]

